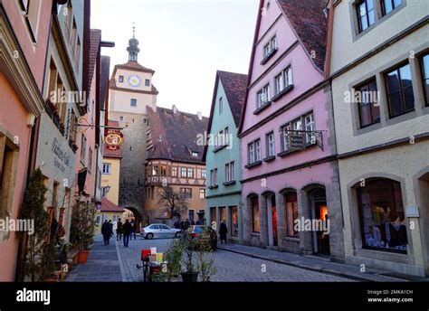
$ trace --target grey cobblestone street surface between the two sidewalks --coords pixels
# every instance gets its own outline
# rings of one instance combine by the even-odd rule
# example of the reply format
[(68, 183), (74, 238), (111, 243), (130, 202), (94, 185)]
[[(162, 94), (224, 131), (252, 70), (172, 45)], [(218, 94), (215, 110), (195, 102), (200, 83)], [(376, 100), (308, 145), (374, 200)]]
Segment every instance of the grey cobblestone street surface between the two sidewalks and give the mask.
[[(129, 248), (124, 248), (122, 242), (118, 242), (119, 262), (123, 267), (125, 279), (129, 282), (140, 282), (143, 279), (141, 269), (140, 251), (150, 247), (156, 247), (158, 251), (167, 250), (167, 245), (172, 240), (131, 240)], [(248, 256), (235, 254), (225, 250), (216, 250), (213, 254), (217, 273), (213, 281), (225, 282), (281, 282), (281, 281), (325, 281), (348, 282), (347, 278), (338, 278), (328, 274), (300, 269), (284, 264), (275, 263), (263, 259), (254, 259)]]

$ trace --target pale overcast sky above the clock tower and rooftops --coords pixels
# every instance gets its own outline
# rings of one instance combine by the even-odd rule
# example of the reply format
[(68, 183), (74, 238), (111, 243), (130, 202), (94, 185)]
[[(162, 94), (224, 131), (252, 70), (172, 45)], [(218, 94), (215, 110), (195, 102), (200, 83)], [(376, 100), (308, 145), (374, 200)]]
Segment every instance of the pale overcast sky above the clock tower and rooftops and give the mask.
[[(91, 28), (110, 56), (110, 70), (128, 61), (136, 23), (138, 62), (155, 72), (157, 105), (210, 113), (216, 70), (246, 73), (258, 0), (92, 0)], [(111, 72), (111, 71), (110, 71)]]

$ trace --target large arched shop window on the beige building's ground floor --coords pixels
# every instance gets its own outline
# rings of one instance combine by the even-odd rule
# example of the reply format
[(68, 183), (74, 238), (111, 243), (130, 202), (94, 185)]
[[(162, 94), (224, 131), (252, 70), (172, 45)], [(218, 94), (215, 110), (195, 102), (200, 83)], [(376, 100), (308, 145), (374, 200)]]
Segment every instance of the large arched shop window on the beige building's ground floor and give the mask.
[(358, 188), (362, 245), (405, 252), (407, 236), (401, 184), (377, 179)]

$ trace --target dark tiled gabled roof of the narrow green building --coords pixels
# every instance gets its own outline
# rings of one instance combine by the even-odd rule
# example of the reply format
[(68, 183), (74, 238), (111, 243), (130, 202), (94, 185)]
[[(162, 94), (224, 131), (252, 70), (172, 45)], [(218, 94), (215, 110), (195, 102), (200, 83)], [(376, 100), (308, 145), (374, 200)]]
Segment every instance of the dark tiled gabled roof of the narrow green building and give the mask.
[[(222, 82), (226, 100), (228, 101), (231, 113), (233, 114), (235, 127), (240, 125), (244, 100), (247, 88), (247, 75), (228, 71), (216, 71), (215, 90), (213, 91), (212, 108), (210, 108), (210, 118), (208, 119), (207, 134), (211, 133), (213, 117), (215, 114), (216, 95), (219, 87), (219, 80)], [(203, 161), (207, 153), (207, 146), (204, 148)]]

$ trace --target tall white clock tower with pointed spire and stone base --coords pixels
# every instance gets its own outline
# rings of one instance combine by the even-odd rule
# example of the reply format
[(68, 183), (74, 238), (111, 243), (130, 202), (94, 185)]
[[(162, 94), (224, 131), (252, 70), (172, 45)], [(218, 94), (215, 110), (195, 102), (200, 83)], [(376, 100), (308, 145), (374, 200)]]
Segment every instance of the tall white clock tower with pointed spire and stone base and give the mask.
[(129, 39), (129, 61), (116, 65), (110, 79), (109, 118), (123, 127), (124, 144), (119, 172), (119, 206), (143, 215), (145, 194), (147, 108), (157, 106), (158, 91), (152, 84), (155, 71), (138, 63), (138, 40)]

